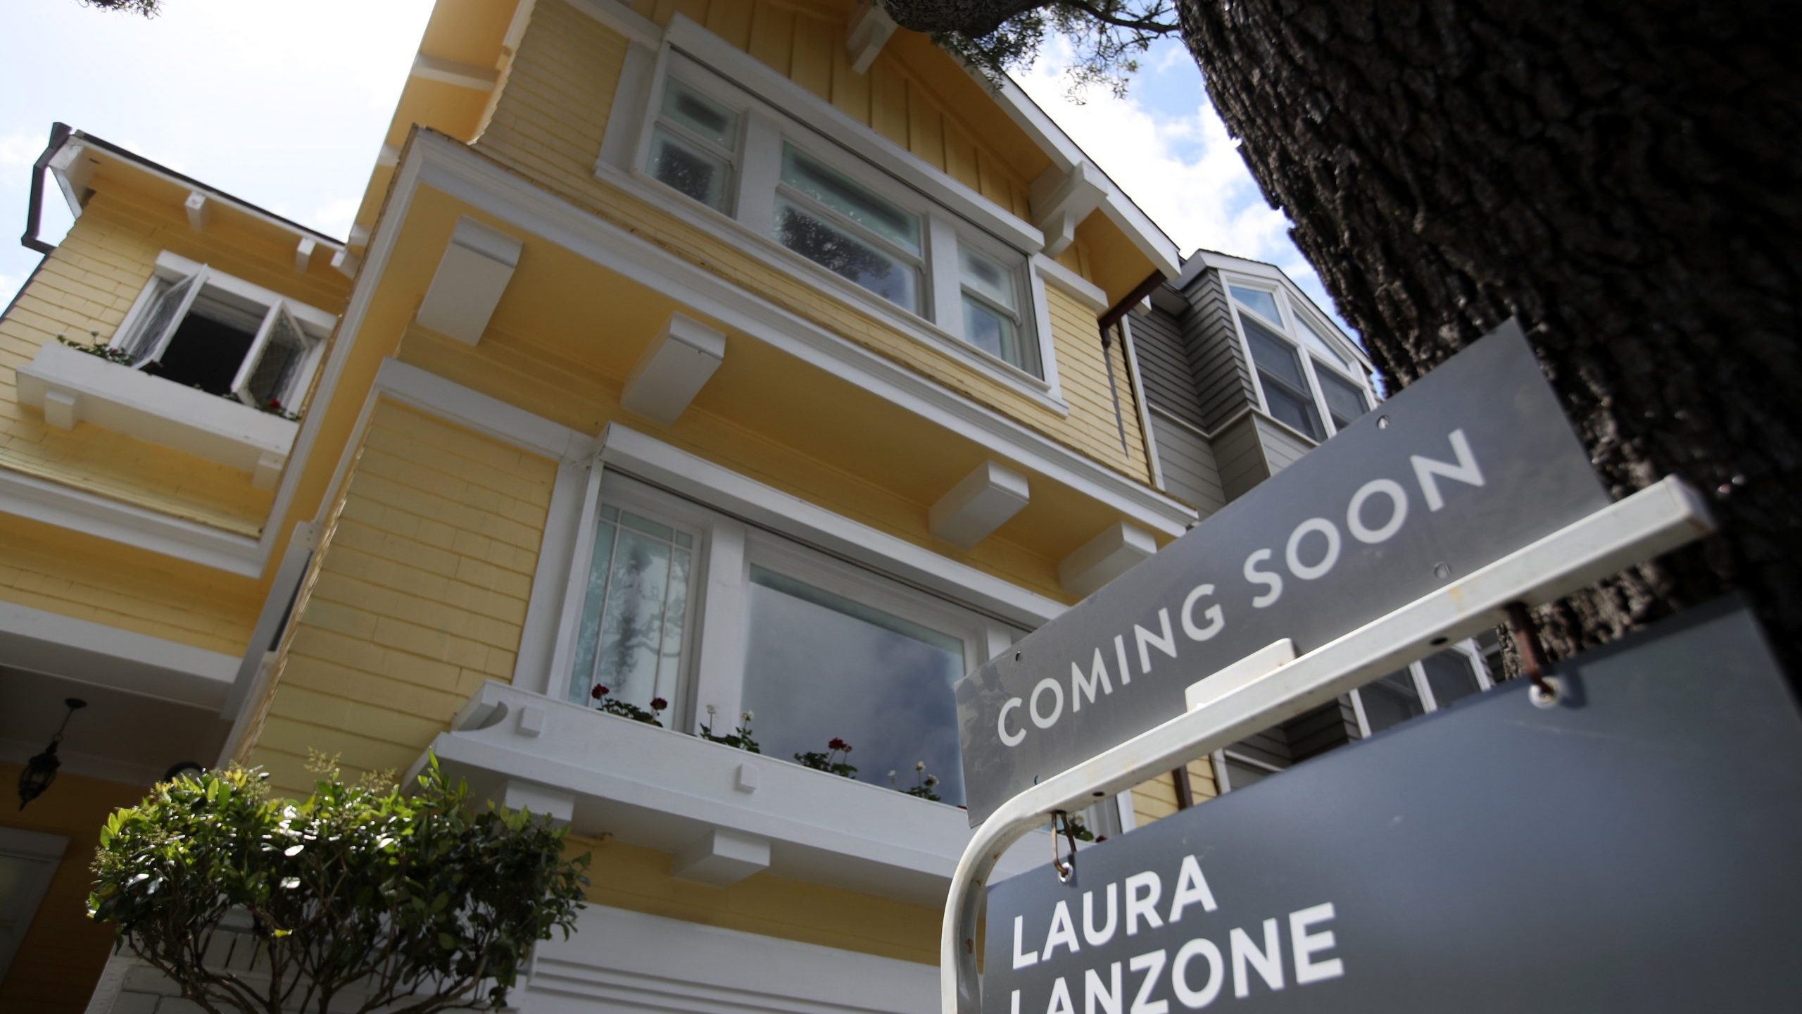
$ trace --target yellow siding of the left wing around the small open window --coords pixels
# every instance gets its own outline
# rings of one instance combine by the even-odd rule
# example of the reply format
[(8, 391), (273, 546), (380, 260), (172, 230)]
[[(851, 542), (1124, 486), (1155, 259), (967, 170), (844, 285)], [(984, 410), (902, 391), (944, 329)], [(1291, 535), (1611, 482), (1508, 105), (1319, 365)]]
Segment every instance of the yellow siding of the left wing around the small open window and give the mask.
[[(38, 348), (56, 343), (56, 336), (83, 345), (114, 337), (150, 283), (162, 249), (263, 287), (283, 281), (258, 272), (241, 253), (193, 233), (186, 222), (96, 195), (0, 319), (0, 467), (254, 536), (263, 529), (274, 491), (252, 489), (249, 473), (92, 422), (56, 429), (38, 408), (18, 402), (16, 370)], [(294, 276), (292, 262), (288, 276), (283, 294), (337, 309), (339, 296)]]

